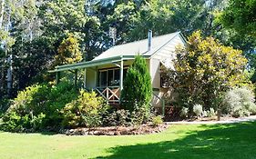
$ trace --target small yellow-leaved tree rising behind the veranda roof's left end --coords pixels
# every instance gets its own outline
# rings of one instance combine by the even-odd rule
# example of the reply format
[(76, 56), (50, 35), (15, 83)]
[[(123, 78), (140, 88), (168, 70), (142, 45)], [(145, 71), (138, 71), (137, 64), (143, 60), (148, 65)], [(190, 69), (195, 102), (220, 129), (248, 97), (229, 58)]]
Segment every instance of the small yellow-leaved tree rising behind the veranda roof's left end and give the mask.
[(64, 39), (57, 49), (56, 65), (67, 65), (80, 62), (82, 53), (79, 50), (77, 37), (70, 34), (67, 39)]

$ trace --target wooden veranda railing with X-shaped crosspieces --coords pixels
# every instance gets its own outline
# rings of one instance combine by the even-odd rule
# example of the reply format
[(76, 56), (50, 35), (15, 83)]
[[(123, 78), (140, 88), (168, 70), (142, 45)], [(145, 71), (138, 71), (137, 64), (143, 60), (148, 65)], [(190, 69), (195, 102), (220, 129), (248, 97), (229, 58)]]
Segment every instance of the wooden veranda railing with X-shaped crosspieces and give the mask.
[(118, 104), (120, 102), (119, 86), (96, 87), (94, 91), (102, 96), (109, 104)]

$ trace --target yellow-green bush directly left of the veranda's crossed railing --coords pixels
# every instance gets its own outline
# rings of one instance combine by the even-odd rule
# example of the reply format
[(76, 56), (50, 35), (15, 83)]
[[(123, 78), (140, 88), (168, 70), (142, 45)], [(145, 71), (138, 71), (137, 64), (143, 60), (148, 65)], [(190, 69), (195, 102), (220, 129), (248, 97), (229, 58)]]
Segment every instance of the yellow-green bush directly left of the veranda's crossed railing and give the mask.
[(74, 101), (66, 104), (62, 110), (65, 127), (95, 127), (103, 122), (102, 115), (108, 110), (108, 105), (95, 92), (80, 91), (80, 95)]

